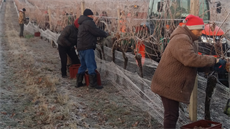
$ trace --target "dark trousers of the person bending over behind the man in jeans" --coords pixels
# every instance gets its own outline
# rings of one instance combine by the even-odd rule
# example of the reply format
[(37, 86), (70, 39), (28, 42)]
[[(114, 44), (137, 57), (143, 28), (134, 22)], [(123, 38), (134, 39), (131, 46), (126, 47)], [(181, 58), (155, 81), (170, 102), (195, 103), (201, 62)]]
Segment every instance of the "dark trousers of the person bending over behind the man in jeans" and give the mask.
[(73, 47), (63, 47), (58, 45), (59, 56), (61, 58), (61, 73), (62, 75), (66, 74), (66, 65), (67, 65), (67, 54), (69, 55), (73, 64), (80, 64), (78, 56)]

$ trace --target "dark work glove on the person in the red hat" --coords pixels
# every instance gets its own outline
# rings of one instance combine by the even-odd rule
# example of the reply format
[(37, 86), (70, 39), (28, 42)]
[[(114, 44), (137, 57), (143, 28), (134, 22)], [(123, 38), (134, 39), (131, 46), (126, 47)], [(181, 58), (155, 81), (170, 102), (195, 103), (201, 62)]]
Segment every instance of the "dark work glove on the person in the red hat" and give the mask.
[(219, 58), (216, 59), (216, 64), (213, 66), (213, 69), (218, 73), (225, 73), (226, 72), (225, 67), (226, 67), (226, 61)]

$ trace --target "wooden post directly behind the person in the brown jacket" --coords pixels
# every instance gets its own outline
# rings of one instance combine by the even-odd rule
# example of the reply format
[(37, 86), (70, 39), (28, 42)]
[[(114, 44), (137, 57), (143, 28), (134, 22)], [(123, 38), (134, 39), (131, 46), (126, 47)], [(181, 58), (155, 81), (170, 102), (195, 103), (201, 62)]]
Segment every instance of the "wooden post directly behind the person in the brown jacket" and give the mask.
[[(199, 15), (199, 0), (190, 1), (191, 14), (198, 16)], [(197, 86), (198, 80), (196, 76), (194, 89), (191, 94), (190, 104), (189, 104), (189, 117), (191, 121), (197, 121)]]

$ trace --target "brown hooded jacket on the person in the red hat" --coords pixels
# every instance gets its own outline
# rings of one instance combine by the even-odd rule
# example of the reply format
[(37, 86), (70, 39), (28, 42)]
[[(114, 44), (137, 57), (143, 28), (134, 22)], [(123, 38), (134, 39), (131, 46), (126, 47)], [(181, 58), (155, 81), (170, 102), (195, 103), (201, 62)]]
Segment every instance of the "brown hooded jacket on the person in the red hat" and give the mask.
[(215, 57), (197, 54), (196, 39), (186, 26), (175, 29), (153, 75), (153, 92), (189, 104), (197, 67), (211, 67), (216, 62)]

